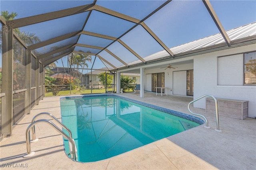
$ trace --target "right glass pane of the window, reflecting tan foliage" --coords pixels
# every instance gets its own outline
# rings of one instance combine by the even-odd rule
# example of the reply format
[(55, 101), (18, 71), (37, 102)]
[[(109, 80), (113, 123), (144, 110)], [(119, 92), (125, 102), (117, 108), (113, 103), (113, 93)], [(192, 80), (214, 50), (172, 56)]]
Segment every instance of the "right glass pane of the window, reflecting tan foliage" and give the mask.
[(244, 84), (256, 85), (256, 52), (244, 54)]

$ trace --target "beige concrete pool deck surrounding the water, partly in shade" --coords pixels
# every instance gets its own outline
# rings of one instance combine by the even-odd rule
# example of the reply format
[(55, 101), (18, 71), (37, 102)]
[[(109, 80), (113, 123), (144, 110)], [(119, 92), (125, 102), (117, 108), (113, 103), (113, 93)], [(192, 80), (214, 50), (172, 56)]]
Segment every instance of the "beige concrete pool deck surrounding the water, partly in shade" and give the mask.
[[(188, 112), (188, 103), (193, 100), (185, 96), (156, 96), (145, 93), (118, 94), (127, 98), (153, 104), (167, 109)], [(60, 96), (45, 97), (14, 127), (12, 136), (0, 142), (1, 170), (255, 170), (256, 169), (256, 119), (244, 120), (219, 116), (220, 130), (217, 132), (215, 114), (191, 107), (195, 113), (204, 115), (210, 129), (200, 125), (182, 133), (150, 143), (138, 149), (97, 162), (80, 163), (64, 153), (62, 136), (46, 123), (36, 124), (36, 137), (31, 143), (34, 156), (23, 158), (26, 153), (25, 131), (38, 113), (49, 112), (60, 119)], [(40, 117), (49, 119), (49, 117)], [(54, 122), (54, 121), (53, 121)], [(86, 150), (84, 151), (86, 152)], [(9, 166), (9, 167), (8, 167)], [(21, 167), (20, 167), (21, 166)], [(19, 167), (19, 168), (18, 168)]]

